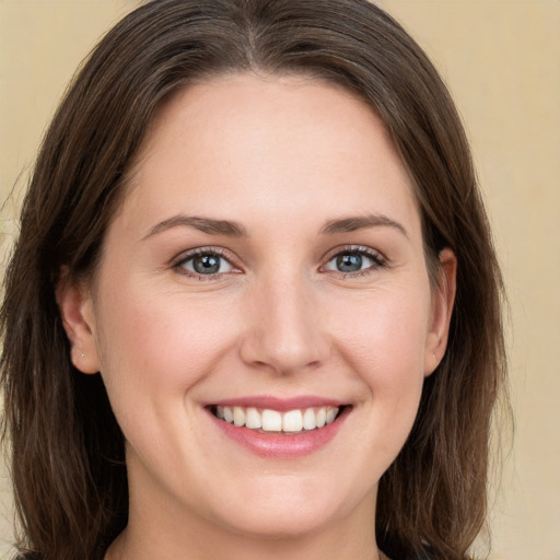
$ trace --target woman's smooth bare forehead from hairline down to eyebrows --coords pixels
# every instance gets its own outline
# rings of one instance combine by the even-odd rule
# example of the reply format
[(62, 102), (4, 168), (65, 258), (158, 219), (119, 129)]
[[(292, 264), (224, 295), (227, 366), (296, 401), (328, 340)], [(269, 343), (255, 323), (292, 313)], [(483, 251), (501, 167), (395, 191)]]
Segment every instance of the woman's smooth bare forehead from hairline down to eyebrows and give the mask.
[(243, 215), (258, 203), (277, 218), (298, 214), (296, 206), (304, 215), (337, 206), (352, 214), (418, 213), (371, 106), (301, 75), (222, 75), (177, 92), (158, 113), (129, 183), (125, 206), (142, 206), (152, 220), (177, 206)]

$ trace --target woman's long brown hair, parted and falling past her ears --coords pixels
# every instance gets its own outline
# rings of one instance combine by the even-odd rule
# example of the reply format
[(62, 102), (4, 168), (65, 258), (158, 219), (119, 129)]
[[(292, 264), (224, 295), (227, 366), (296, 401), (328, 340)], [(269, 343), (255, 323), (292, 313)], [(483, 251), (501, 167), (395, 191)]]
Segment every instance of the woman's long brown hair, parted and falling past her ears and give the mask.
[[(88, 278), (154, 114), (231, 72), (341, 85), (381, 117), (415, 185), (427, 261), (454, 250), (448, 346), (380, 481), (376, 537), (399, 559), (464, 560), (485, 524), (491, 412), (505, 378), (503, 294), (469, 147), (413, 39), (366, 0), (155, 0), (101, 40), (38, 154), (0, 314), (4, 439), (21, 550), (98, 560), (125, 528), (124, 436), (100, 375), (81, 375), (55, 300), (61, 267)], [(372, 528), (373, 530), (373, 528)]]

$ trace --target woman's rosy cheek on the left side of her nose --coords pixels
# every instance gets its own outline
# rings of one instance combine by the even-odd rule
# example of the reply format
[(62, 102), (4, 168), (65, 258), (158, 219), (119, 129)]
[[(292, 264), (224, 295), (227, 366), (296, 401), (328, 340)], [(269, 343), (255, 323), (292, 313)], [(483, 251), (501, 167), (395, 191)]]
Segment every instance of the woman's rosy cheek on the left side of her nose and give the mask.
[[(149, 418), (205, 378), (231, 348), (219, 306), (142, 285), (110, 287), (98, 313), (102, 376), (120, 422)], [(150, 295), (147, 295), (150, 294)], [(138, 418), (137, 418), (138, 417)]]

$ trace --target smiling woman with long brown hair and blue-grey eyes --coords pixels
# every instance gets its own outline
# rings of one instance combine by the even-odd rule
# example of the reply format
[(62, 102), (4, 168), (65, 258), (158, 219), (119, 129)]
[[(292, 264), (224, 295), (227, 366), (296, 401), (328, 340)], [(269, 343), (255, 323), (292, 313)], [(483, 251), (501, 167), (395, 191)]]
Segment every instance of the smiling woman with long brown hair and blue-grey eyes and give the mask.
[(20, 548), (468, 558), (500, 294), (456, 110), (387, 14), (147, 3), (62, 102), (7, 276)]

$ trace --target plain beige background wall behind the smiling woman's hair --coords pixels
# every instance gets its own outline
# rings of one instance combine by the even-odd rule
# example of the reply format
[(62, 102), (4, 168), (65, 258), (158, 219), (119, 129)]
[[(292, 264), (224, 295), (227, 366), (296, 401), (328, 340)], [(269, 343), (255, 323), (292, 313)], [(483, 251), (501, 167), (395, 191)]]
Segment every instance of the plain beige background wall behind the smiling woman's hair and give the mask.
[[(0, 195), (25, 170), (72, 72), (132, 0), (0, 0)], [(560, 1), (384, 0), (467, 124), (511, 302), (513, 453), (491, 559), (560, 560)], [(16, 197), (19, 198), (19, 197)], [(2, 245), (15, 203), (2, 215)], [(0, 478), (0, 555), (11, 508)]]

